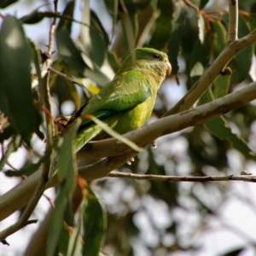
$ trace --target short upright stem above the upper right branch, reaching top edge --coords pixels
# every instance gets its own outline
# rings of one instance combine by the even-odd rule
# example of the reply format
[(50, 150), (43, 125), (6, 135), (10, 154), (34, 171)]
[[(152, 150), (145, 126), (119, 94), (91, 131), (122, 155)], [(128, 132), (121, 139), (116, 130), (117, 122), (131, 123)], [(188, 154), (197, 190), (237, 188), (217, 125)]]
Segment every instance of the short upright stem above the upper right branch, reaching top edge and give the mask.
[(229, 0), (229, 33), (228, 43), (237, 40), (237, 27), (238, 27), (238, 0)]

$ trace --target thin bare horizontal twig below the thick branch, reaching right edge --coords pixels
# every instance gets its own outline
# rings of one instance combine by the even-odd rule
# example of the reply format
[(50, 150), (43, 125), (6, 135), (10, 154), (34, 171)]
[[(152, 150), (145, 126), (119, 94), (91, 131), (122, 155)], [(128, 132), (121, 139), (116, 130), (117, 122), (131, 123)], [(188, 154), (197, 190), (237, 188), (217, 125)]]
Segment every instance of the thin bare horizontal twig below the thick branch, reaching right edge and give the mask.
[(129, 172), (110, 172), (108, 177), (128, 177), (133, 179), (144, 179), (144, 180), (154, 180), (162, 182), (219, 182), (219, 181), (230, 181), (230, 180), (240, 180), (244, 182), (256, 183), (256, 176), (253, 175), (229, 175), (229, 176), (165, 176), (165, 175), (153, 175), (153, 174), (137, 174)]

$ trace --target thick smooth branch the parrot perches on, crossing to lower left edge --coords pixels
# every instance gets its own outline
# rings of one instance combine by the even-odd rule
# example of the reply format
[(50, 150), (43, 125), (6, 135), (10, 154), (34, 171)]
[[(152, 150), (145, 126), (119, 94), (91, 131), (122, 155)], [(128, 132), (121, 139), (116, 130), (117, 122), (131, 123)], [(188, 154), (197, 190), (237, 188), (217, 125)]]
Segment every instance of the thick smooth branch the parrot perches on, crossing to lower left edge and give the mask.
[[(247, 84), (241, 90), (236, 90), (230, 95), (224, 96), (214, 102), (207, 103), (198, 108), (177, 113), (175, 115), (162, 118), (156, 122), (144, 126), (137, 131), (131, 131), (125, 134), (125, 137), (137, 143), (139, 146), (146, 146), (151, 143), (156, 137), (161, 137), (166, 134), (183, 130), (192, 125), (196, 125), (214, 118), (220, 114), (228, 113), (229, 111), (239, 108), (242, 105), (253, 101), (256, 98), (256, 82)], [(131, 151), (125, 144), (117, 142), (115, 139), (108, 139), (91, 143), (83, 150), (83, 154), (87, 157), (100, 159), (112, 155), (108, 159), (97, 162), (90, 166), (85, 166), (79, 169), (79, 174), (85, 179), (92, 180), (99, 177), (105, 177), (108, 172), (125, 164), (136, 153)], [(8, 217), (11, 213), (23, 207), (31, 198), (32, 191), (36, 188), (40, 179), (41, 172), (35, 172), (26, 180), (18, 184), (14, 189), (9, 190), (6, 194), (0, 197), (0, 220)], [(58, 178), (55, 177), (47, 184), (47, 188), (59, 184)]]

